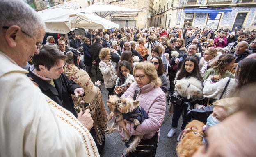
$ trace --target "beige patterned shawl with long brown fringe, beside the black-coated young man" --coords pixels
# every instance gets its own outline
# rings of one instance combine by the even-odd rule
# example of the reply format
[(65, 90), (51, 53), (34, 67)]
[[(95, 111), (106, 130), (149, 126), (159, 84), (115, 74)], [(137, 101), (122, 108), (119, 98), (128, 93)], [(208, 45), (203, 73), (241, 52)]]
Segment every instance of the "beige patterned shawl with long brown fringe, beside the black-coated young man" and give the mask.
[[(97, 142), (102, 144), (105, 130), (108, 125), (107, 112), (105, 110), (101, 91), (94, 86), (88, 73), (83, 69), (78, 69), (75, 65), (67, 64), (65, 67), (66, 76), (80, 85), (85, 90), (84, 100), (90, 104), (91, 117), (94, 120), (94, 128), (96, 131)], [(78, 104), (78, 98), (72, 95), (74, 104)]]

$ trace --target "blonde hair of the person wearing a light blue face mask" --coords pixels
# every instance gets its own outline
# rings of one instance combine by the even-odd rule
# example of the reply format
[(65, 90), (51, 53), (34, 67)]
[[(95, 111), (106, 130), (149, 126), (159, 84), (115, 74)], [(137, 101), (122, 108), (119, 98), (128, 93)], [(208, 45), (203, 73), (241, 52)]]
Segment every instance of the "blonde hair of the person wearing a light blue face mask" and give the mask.
[(240, 108), (238, 104), (239, 101), (240, 101), (239, 97), (230, 97), (230, 98), (216, 100), (215, 102), (213, 102), (213, 105), (221, 106), (222, 108), (224, 108), (224, 110), (226, 111), (225, 116), (228, 117), (229, 115), (238, 111), (238, 109)]

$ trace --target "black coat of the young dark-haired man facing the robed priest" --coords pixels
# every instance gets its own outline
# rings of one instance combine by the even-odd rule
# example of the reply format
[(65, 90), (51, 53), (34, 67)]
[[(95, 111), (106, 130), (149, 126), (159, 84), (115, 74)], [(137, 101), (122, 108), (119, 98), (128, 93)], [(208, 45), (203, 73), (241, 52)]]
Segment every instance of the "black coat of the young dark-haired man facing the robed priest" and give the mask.
[(76, 84), (72, 80), (69, 80), (69, 78), (66, 77), (63, 73), (60, 75), (59, 78), (53, 80), (55, 87), (34, 75), (34, 73), (30, 71), (30, 69), (27, 76), (31, 77), (34, 82), (39, 85), (39, 88), (41, 89), (43, 94), (50, 97), (60, 106), (66, 108), (71, 113), (73, 113), (75, 117), (77, 117), (71, 94), (74, 94), (74, 90), (76, 88), (81, 88), (78, 84)]

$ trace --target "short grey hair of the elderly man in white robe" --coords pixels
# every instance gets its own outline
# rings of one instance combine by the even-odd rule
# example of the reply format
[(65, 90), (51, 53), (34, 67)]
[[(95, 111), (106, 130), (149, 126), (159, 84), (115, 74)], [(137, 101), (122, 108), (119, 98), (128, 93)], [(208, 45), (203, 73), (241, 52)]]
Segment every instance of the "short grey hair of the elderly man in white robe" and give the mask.
[(0, 29), (18, 25), (31, 36), (36, 35), (39, 27), (45, 29), (41, 17), (23, 0), (0, 0), (0, 21)]

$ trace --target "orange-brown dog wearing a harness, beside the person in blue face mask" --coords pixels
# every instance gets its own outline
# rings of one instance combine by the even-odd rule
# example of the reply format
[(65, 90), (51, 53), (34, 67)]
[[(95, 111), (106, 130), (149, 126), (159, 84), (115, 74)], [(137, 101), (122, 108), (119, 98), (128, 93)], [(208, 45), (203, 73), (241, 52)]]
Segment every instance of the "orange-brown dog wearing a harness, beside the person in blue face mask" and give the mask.
[(203, 145), (203, 126), (204, 123), (192, 120), (183, 130), (180, 142), (176, 148), (178, 157), (191, 157)]

